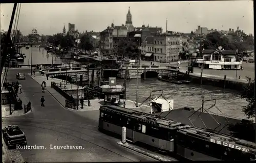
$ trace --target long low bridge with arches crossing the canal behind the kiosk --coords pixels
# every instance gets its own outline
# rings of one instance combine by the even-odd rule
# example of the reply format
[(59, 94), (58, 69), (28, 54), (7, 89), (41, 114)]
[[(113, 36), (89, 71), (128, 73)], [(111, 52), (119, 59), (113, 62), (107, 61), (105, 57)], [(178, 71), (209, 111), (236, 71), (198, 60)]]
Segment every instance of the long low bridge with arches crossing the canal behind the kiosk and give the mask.
[(128, 70), (130, 78), (137, 78), (138, 77), (157, 77), (158, 73), (165, 73), (170, 71), (177, 71), (177, 68), (174, 66), (120, 66), (118, 69), (114, 68), (88, 68), (87, 66), (81, 67), (73, 67), (73, 68), (66, 68), (66, 67), (59, 67), (59, 68), (51, 68), (51, 69), (42, 69), (40, 70), (41, 74), (46, 74), (51, 78), (63, 78), (75, 81), (76, 78), (82, 81), (87, 80), (94, 80), (97, 78), (97, 71), (100, 71), (104, 77), (110, 76), (117, 76), (119, 78), (124, 78), (125, 71)]

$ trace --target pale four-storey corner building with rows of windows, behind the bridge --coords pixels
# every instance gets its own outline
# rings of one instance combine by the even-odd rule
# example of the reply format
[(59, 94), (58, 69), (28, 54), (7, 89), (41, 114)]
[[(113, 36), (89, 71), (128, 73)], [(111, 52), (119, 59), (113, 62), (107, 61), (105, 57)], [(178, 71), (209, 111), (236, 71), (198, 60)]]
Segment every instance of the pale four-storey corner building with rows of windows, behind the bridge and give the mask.
[(179, 60), (179, 35), (154, 35), (154, 61), (175, 62)]

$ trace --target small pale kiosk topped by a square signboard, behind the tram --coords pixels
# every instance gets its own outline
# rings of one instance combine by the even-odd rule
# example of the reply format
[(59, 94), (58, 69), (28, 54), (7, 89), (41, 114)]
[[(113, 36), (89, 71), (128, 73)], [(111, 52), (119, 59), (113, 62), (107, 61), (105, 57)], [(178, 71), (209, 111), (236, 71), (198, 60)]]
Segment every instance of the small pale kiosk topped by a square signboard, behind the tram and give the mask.
[(116, 77), (109, 77), (109, 84), (100, 86), (102, 93), (104, 93), (104, 103), (119, 105), (120, 99), (123, 97), (125, 88), (116, 84)]

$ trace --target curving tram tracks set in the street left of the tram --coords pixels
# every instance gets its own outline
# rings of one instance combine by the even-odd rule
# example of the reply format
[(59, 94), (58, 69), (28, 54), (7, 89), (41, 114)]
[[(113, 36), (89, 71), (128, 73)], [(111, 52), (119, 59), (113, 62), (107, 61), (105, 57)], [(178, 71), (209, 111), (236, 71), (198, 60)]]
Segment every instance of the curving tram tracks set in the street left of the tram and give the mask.
[[(18, 122), (18, 121), (10, 121), (10, 122)], [(8, 122), (3, 122), (3, 124), (7, 124), (7, 123)], [(26, 129), (28, 129), (29, 127), (33, 127), (33, 128), (37, 128), (37, 129), (50, 130), (50, 131), (54, 131), (54, 132), (57, 132), (57, 133), (65, 134), (68, 137), (73, 138), (72, 141), (74, 141), (75, 143), (77, 143), (79, 145), (81, 144), (81, 142), (79, 142), (77, 140), (81, 140), (83, 142), (90, 143), (94, 146), (97, 146), (98, 148), (101, 148), (105, 151), (111, 152), (111, 153), (113, 153), (115, 155), (118, 155), (119, 157), (123, 157), (127, 160), (137, 161), (137, 160), (134, 160), (132, 158), (129, 158), (129, 156), (125, 156), (125, 155), (127, 155), (127, 153), (125, 153), (125, 152), (121, 153), (121, 151), (123, 151), (124, 149), (123, 149), (123, 147), (117, 145), (117, 141), (118, 141), (117, 139), (115, 139), (113, 137), (109, 137), (108, 135), (105, 135), (103, 133), (102, 133), (102, 135), (103, 135), (104, 139), (102, 139), (102, 135), (100, 134), (99, 131), (93, 131), (89, 128), (82, 127), (82, 129), (88, 130), (89, 133), (94, 132), (94, 134), (98, 134), (98, 135), (95, 135), (95, 137), (92, 138), (92, 135), (90, 135), (88, 133), (77, 131), (77, 130), (71, 129), (69, 127), (63, 127), (63, 126), (61, 126), (60, 124), (57, 124), (57, 123), (47, 123), (47, 122), (46, 123), (44, 123), (44, 122), (43, 123), (24, 122), (24, 123), (28, 123), (28, 124), (20, 124), (19, 125), (20, 128), (23, 129), (23, 126), (25, 126)], [(40, 126), (40, 125), (42, 125), (42, 126)], [(55, 125), (55, 126), (53, 126), (53, 125)], [(65, 126), (68, 126), (68, 125), (66, 124)], [(78, 126), (75, 126), (75, 127), (76, 128), (81, 128), (81, 127), (78, 127)], [(90, 140), (90, 139), (92, 139), (92, 140)], [(129, 149), (126, 149), (126, 150), (129, 150)], [(148, 156), (145, 155), (145, 158), (148, 158)], [(153, 159), (153, 158), (151, 158), (151, 159)], [(153, 159), (153, 160), (155, 160), (155, 159)]]

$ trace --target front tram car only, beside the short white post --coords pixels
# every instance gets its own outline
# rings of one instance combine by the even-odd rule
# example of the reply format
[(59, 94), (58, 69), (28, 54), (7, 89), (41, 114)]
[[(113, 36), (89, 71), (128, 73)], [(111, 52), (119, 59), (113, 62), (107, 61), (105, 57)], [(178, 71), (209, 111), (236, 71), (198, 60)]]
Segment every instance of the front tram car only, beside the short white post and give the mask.
[(127, 141), (174, 152), (174, 137), (181, 123), (114, 105), (100, 106), (99, 110), (100, 131), (121, 135), (125, 126)]

